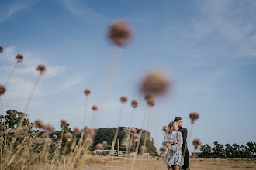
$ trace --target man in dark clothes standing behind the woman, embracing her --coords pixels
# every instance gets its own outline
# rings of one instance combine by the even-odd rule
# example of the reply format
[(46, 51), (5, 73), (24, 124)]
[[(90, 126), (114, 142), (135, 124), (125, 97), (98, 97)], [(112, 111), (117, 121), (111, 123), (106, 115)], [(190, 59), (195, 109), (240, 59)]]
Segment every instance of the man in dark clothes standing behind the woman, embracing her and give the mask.
[(178, 128), (179, 128), (178, 131), (182, 133), (182, 138), (183, 138), (182, 155), (184, 156), (184, 165), (182, 166), (182, 169), (189, 170), (189, 150), (187, 145), (188, 130), (186, 128), (182, 128), (183, 126), (182, 117), (175, 117), (174, 121), (178, 123)]

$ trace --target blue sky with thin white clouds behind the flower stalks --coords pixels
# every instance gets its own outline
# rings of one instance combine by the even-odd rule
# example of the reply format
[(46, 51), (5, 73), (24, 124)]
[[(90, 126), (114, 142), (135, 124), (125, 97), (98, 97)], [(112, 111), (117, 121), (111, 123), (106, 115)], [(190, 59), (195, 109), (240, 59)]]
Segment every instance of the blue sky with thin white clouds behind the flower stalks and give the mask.
[[(116, 47), (106, 35), (109, 25), (125, 20), (133, 39), (120, 50), (116, 72), (111, 59)], [(93, 128), (130, 125), (130, 101), (138, 100), (133, 127), (141, 128), (146, 102), (140, 80), (158, 70), (171, 80), (164, 97), (156, 97), (148, 131), (157, 148), (163, 125), (182, 117), (189, 133), (189, 113), (200, 114), (192, 140), (213, 146), (256, 141), (256, 2), (251, 1), (0, 1), (0, 83), (4, 84), (17, 53), (24, 55), (2, 97), (5, 110), (24, 111), (36, 82), (36, 66), (47, 71), (36, 87), (29, 119), (41, 119), (60, 129), (82, 127), (85, 88), (88, 98), (85, 124), (91, 124), (92, 105), (99, 106)], [(113, 79), (111, 78), (113, 77)], [(111, 88), (107, 88), (109, 80)], [(107, 94), (107, 97), (102, 97)], [(106, 98), (106, 100), (102, 100)], [(99, 104), (102, 103), (102, 104)], [(104, 103), (104, 104), (103, 104)], [(145, 127), (144, 127), (145, 128)]]

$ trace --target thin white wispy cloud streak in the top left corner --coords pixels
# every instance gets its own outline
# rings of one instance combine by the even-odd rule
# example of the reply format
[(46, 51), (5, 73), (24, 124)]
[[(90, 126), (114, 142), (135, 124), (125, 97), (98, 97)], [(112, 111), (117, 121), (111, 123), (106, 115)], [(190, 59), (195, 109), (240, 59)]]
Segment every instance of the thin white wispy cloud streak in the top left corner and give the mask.
[(5, 19), (9, 19), (12, 15), (15, 15), (26, 8), (31, 7), (32, 5), (39, 2), (39, 0), (23, 0), (23, 1), (8, 1), (7, 4), (3, 2), (0, 3), (0, 22)]

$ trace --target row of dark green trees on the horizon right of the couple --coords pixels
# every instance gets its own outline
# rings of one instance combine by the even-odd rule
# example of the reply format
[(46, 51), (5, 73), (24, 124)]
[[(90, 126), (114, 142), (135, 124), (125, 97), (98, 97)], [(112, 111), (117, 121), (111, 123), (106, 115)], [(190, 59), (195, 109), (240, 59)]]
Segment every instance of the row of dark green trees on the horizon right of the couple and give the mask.
[(208, 144), (202, 145), (202, 157), (206, 158), (256, 158), (256, 142), (247, 142), (244, 145), (225, 144), (221, 145), (214, 141), (213, 148)]

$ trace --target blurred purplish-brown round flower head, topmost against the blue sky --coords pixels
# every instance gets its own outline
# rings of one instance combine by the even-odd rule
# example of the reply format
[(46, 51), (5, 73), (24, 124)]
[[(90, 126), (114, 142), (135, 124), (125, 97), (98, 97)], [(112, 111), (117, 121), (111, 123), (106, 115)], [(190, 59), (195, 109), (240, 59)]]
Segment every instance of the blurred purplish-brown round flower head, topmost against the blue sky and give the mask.
[(109, 27), (108, 37), (117, 46), (124, 46), (131, 39), (130, 26), (124, 21), (114, 22)]

